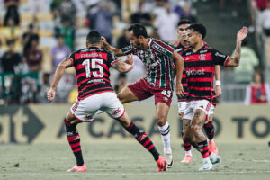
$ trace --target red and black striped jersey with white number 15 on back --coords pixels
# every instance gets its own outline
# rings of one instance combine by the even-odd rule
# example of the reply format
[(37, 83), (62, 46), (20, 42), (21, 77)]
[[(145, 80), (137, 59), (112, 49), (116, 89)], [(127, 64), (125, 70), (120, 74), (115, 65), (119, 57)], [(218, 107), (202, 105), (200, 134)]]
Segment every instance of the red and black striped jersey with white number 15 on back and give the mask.
[(76, 69), (78, 100), (94, 94), (114, 92), (109, 68), (118, 60), (111, 52), (91, 47), (77, 50), (68, 58)]

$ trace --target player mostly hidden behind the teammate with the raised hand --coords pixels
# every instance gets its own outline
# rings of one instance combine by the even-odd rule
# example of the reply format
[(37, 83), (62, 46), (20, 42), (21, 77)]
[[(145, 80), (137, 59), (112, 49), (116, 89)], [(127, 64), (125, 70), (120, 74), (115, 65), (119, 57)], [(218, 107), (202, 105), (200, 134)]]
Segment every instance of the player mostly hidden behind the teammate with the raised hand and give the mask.
[[(184, 51), (184, 49), (187, 49), (189, 47), (188, 27), (190, 24), (191, 24), (191, 22), (187, 19), (183, 19), (178, 23), (177, 34), (179, 37), (179, 42), (175, 44), (175, 47), (176, 47), (175, 50), (180, 55)], [(184, 96), (177, 96), (178, 112), (179, 112), (179, 115), (181, 116), (181, 118), (183, 118), (183, 115), (184, 115), (184, 109), (186, 107), (186, 96), (188, 93), (188, 88), (187, 88), (187, 83), (186, 83), (185, 77), (186, 77), (186, 74), (185, 74), (185, 72), (183, 72), (182, 85), (184, 88)], [(219, 65), (215, 65), (215, 77), (216, 77), (216, 85), (214, 88), (215, 92), (213, 92), (213, 93), (216, 94), (217, 96), (219, 96), (221, 94), (220, 66)], [(216, 104), (213, 103), (213, 105), (216, 105)], [(208, 118), (208, 121), (203, 125), (203, 129), (207, 135), (207, 138), (209, 139), (209, 148), (210, 148), (211, 152), (218, 154), (218, 148), (216, 147), (215, 142), (214, 142), (214, 126), (212, 123), (212, 114)], [(183, 132), (182, 132), (182, 136), (183, 136)], [(181, 162), (184, 164), (191, 163), (192, 162), (191, 144), (187, 141), (184, 141), (184, 152), (185, 152), (184, 159)]]

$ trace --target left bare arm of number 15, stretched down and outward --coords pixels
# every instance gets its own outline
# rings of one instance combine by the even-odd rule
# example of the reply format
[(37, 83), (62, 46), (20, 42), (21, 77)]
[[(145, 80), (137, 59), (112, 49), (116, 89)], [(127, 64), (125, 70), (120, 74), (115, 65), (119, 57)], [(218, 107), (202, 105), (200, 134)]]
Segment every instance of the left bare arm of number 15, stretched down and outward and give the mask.
[(72, 61), (70, 60), (70, 58), (66, 58), (58, 64), (57, 70), (52, 80), (52, 84), (50, 85), (49, 91), (47, 93), (47, 99), (49, 103), (54, 100), (58, 82), (64, 75), (65, 69), (68, 67), (72, 67)]

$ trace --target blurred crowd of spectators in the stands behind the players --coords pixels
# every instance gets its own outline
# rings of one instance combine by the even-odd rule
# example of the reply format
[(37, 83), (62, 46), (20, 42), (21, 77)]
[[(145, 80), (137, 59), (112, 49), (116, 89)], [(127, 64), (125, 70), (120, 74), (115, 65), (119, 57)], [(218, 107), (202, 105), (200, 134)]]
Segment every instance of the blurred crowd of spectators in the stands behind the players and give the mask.
[[(85, 37), (90, 30), (100, 31), (117, 48), (130, 45), (127, 31), (130, 23), (144, 24), (150, 37), (176, 41), (179, 20), (196, 22), (193, 4), (198, 1), (0, 0), (0, 104), (46, 103), (46, 93), (58, 63), (72, 51), (85, 48)], [(255, 1), (265, 2), (263, 7), (258, 3), (258, 8), (269, 16), (270, 4)], [(220, 9), (224, 4), (225, 0), (220, 0)], [(237, 6), (232, 11), (237, 14)], [(270, 18), (263, 19), (268, 34)], [(253, 49), (246, 47), (242, 54), (249, 58), (247, 66), (242, 65), (236, 72), (248, 71), (248, 76), (241, 76), (246, 79), (238, 80), (248, 84), (258, 59)], [(139, 58), (134, 60), (135, 67), (127, 75), (112, 70), (116, 91), (145, 75)], [(71, 68), (66, 72), (58, 84), (55, 103), (76, 100), (75, 72)]]

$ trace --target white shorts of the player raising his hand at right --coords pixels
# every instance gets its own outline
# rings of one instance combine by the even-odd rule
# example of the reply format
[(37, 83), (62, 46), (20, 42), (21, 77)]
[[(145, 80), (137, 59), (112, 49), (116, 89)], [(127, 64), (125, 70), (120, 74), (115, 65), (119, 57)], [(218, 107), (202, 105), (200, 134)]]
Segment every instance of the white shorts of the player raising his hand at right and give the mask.
[(202, 110), (206, 114), (208, 121), (208, 117), (213, 114), (215, 107), (207, 100), (189, 102), (186, 104), (183, 119), (192, 120), (197, 109)]

